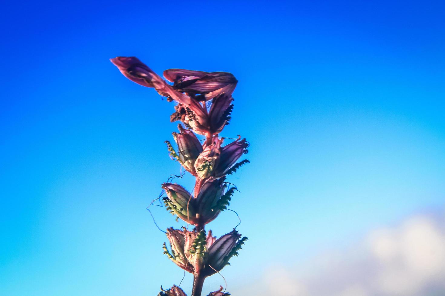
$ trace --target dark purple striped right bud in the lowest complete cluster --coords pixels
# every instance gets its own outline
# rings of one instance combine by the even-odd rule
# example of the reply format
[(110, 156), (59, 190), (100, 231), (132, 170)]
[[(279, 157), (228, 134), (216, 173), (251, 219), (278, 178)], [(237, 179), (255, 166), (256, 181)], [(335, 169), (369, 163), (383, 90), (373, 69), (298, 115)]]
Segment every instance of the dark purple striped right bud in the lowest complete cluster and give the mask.
[(219, 272), (229, 263), (232, 256), (238, 256), (238, 250), (242, 249), (241, 245), (247, 241), (247, 237), (241, 237), (234, 229), (230, 233), (224, 234), (218, 238), (209, 248), (209, 255), (206, 260), (206, 268), (204, 274), (210, 276)]

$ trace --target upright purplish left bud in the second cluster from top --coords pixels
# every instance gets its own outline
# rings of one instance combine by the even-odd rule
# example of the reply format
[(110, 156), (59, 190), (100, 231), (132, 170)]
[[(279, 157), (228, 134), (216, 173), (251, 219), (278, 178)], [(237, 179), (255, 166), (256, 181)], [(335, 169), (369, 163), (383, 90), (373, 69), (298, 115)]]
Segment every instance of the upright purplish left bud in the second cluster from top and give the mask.
[(195, 176), (194, 163), (202, 152), (201, 143), (191, 130), (185, 130), (180, 124), (178, 129), (180, 131), (179, 134), (173, 133), (173, 138), (178, 144), (178, 153), (176, 153), (170, 142), (166, 141), (170, 156), (178, 160), (187, 171)]

